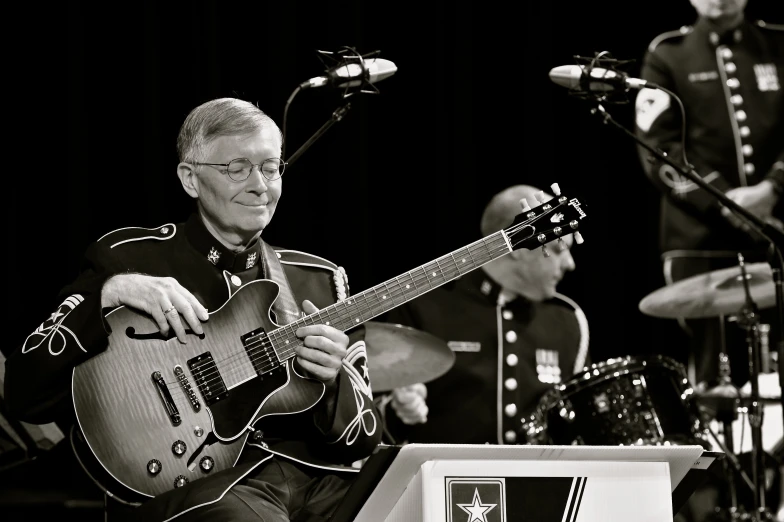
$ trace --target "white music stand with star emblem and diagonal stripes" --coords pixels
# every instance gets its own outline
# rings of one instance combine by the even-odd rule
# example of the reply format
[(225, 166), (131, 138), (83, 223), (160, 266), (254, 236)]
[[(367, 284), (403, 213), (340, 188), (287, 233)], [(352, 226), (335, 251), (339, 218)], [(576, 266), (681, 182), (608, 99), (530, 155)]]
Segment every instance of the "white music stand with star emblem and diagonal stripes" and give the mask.
[(706, 469), (714, 459), (703, 452), (701, 446), (409, 444), (378, 472), (353, 520), (672, 522), (672, 492), (690, 469)]

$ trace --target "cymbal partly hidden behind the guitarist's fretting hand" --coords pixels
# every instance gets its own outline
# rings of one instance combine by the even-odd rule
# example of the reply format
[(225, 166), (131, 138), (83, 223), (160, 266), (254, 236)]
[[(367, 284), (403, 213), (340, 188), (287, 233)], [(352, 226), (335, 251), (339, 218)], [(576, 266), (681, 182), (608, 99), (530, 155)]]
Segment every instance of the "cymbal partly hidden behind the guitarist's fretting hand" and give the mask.
[(432, 381), (455, 362), (445, 341), (400, 324), (366, 322), (365, 346), (373, 391)]

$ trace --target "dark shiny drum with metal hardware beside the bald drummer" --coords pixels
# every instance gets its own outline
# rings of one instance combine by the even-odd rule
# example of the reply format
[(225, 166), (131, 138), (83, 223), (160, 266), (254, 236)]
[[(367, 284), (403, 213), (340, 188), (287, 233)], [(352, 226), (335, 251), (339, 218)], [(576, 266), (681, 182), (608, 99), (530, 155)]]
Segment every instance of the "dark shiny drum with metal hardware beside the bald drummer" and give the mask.
[(710, 449), (683, 365), (661, 355), (585, 368), (540, 399), (522, 432), (529, 444)]

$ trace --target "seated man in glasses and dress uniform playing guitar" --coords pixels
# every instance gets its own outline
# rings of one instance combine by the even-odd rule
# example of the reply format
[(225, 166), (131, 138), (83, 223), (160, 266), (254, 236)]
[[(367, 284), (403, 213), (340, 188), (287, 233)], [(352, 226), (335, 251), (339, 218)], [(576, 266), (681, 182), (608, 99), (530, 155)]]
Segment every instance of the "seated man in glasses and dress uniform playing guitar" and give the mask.
[[(107, 376), (118, 384), (125, 381), (156, 386), (149, 373), (133, 381), (134, 341), (127, 338), (131, 334), (121, 325), (110, 331), (112, 315), (107, 314), (111, 311), (131, 315), (128, 310), (133, 309), (144, 314), (153, 336), (169, 338), (166, 343), (157, 341), (167, 356), (166, 352), (179, 353), (178, 350), (199, 346), (200, 338), (210, 340), (219, 335), (219, 328), (226, 339), (239, 339), (246, 334), (231, 330), (235, 317), (221, 315), (221, 307), (226, 304), (228, 308), (236, 302), (234, 298), (263, 286), (249, 284), (254, 281), (277, 283), (279, 294), (269, 296), (261, 308), (266, 313), (271, 305), (270, 315), (277, 325), (301, 320), (346, 299), (342, 268), (314, 255), (271, 247), (261, 237), (275, 213), (285, 169), (280, 159), (282, 134), (271, 118), (243, 100), (211, 100), (187, 116), (177, 147), (177, 175), (185, 192), (195, 200), (197, 211), (184, 223), (152, 229), (123, 228), (105, 234), (89, 246), (84, 270), (60, 293), (62, 304), (7, 360), (5, 398), (19, 419), (45, 423), (65, 416), (73, 423), (78, 407), (74, 408), (71, 400), (72, 369), (78, 370), (80, 363), (99, 354), (124, 358), (116, 366), (122, 369), (121, 375)], [(223, 401), (236, 401), (236, 409), (227, 418), (239, 423), (235, 431), (244, 433), (243, 439), (249, 435), (237, 462), (225, 469), (209, 469), (214, 462), (197, 460), (195, 471), (186, 477), (187, 483), (179, 480), (178, 487), (172, 483), (171, 489), (160, 494), (134, 497), (133, 500), (141, 501), (141, 506), (123, 512), (131, 511), (134, 519), (178, 521), (326, 520), (331, 515), (357, 476), (358, 469), (351, 464), (371, 453), (380, 440), (381, 429), (376, 421), (370, 381), (367, 372), (363, 372), (366, 352), (362, 332), (352, 331), (350, 338), (330, 326), (329, 321), (302, 322), (291, 334), (293, 351), (288, 352), (291, 359), (283, 367), (285, 386), (272, 397), (289, 394), (281, 401), (296, 405), (299, 388), (295, 385), (304, 382), (309, 390), (316, 390), (316, 399), (304, 408), (291, 406), (291, 411), (283, 410), (262, 419), (262, 429), (253, 421), (263, 397), (239, 399), (247, 386), (223, 383), (229, 389)], [(274, 330), (274, 324), (269, 323), (268, 329), (269, 325)], [(261, 326), (264, 325), (259, 323)], [(281, 352), (277, 354), (280, 356)], [(93, 359), (96, 360), (101, 359)], [(172, 366), (178, 363), (182, 367), (187, 362), (174, 358), (172, 361)], [(225, 361), (215, 363), (217, 370), (213, 366), (213, 373), (223, 374), (231, 366)], [(236, 360), (231, 364), (236, 368), (242, 363)], [(245, 364), (251, 367), (250, 362)], [(263, 364), (266, 363), (254, 363), (252, 368), (263, 375), (267, 371)], [(275, 371), (280, 375), (280, 368)], [(223, 377), (230, 380), (228, 373)], [(209, 377), (213, 379), (210, 382), (216, 382), (214, 378)], [(178, 384), (174, 374), (163, 379), (175, 387)], [(213, 390), (221, 391), (220, 384), (218, 379)], [(206, 401), (209, 388), (192, 383), (190, 390), (196, 388), (198, 392), (190, 397), (196, 402)], [(191, 406), (184, 400), (185, 394), (190, 393), (188, 389), (170, 387), (169, 393), (179, 413), (187, 413), (184, 409)], [(132, 391), (128, 395), (132, 396)], [(144, 415), (145, 409), (166, 407), (166, 395), (163, 390), (160, 403), (127, 404), (125, 411), (101, 411), (93, 416), (125, 417), (128, 430), (133, 432), (133, 418)], [(233, 415), (243, 408), (247, 410), (245, 404), (253, 405), (249, 418), (238, 420)], [(213, 406), (211, 411), (215, 414), (221, 403)], [(220, 420), (217, 416), (215, 419), (216, 423)], [(81, 415), (78, 420), (78, 428), (70, 436), (76, 448), (84, 448), (84, 439), (90, 442), (86, 435), (90, 427)], [(213, 436), (209, 425), (185, 424), (182, 423), (182, 429), (189, 430), (189, 435), (190, 430), (203, 430), (203, 434), (197, 433), (201, 437), (198, 440), (207, 441)], [(164, 442), (169, 445), (173, 441)], [(214, 446), (217, 441), (213, 438), (211, 442)], [(115, 453), (127, 451), (122, 442), (115, 443)], [(172, 451), (177, 449), (173, 446)], [(187, 451), (186, 455), (190, 455), (192, 448)], [(79, 459), (88, 473), (98, 477), (105, 466), (95, 462), (91, 466), (87, 453), (80, 454)], [(209, 453), (209, 449), (205, 450), (204, 455)], [(152, 477), (160, 471), (160, 462), (150, 462), (142, 473)], [(127, 482), (116, 473), (114, 478), (120, 484), (101, 486), (114, 495), (129, 493), (123, 487)]]

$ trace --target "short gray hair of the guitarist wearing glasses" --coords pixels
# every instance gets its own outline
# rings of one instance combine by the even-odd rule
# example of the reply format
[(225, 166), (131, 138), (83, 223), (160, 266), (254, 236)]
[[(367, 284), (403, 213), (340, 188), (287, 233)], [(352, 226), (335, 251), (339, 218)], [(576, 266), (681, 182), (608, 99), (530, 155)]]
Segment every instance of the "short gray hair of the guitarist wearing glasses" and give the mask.
[[(244, 136), (271, 125), (272, 118), (256, 105), (237, 98), (218, 98), (202, 103), (185, 118), (177, 136), (180, 161), (205, 161), (207, 148), (221, 136)], [(283, 143), (283, 134), (280, 136)]]

